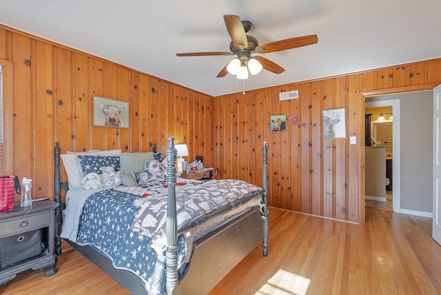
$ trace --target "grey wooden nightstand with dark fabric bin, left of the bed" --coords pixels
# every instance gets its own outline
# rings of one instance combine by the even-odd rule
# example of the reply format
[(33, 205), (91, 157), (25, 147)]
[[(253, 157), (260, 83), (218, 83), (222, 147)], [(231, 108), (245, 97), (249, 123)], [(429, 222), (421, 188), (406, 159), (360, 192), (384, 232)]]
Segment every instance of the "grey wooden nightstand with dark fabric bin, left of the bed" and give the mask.
[(55, 208), (45, 200), (32, 207), (14, 204), (0, 212), (0, 285), (27, 269), (44, 269), (46, 276), (57, 272), (55, 254)]

